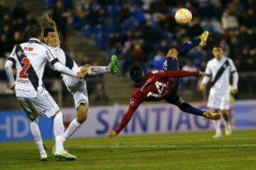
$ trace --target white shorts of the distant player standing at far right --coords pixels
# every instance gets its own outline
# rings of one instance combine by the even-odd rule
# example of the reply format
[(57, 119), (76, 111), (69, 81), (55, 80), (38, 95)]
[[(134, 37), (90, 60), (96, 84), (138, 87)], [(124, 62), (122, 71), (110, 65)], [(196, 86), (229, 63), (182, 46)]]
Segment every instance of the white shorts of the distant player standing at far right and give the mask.
[(215, 108), (221, 111), (230, 109), (229, 95), (210, 94), (207, 103), (208, 108)]

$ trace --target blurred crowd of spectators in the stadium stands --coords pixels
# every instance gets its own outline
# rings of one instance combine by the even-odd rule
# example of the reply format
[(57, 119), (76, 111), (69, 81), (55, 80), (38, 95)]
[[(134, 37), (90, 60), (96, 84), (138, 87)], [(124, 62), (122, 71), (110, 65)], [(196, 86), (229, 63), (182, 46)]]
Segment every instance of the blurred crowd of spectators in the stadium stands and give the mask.
[[(212, 45), (220, 44), (225, 55), (234, 60), (238, 72), (256, 71), (254, 0), (42, 0), (41, 16), (35, 15), (26, 1), (15, 1), (14, 6), (0, 1), (1, 80), (6, 80), (3, 67), (6, 57), (14, 45), (26, 40), (24, 33), (28, 26), (42, 23), (44, 13), (50, 13), (57, 24), (63, 49), (74, 53), (68, 37), (76, 31), (80, 33), (80, 40), (93, 42), (105, 58), (118, 55), (122, 77), (127, 77), (134, 63), (146, 71), (161, 69), (170, 47), (196, 38), (203, 30), (211, 33), (208, 46), (196, 47), (186, 57), (180, 57), (182, 69), (204, 70), (212, 57)], [(186, 26), (178, 25), (174, 20), (178, 8), (191, 10), (193, 21)], [(74, 58), (79, 64), (102, 64), (86, 52), (78, 56)], [(55, 77), (55, 74), (46, 73), (46, 76)], [(95, 100), (105, 101), (108, 97), (102, 77), (97, 80), (89, 89)], [(186, 81), (183, 80), (185, 87)], [(255, 77), (248, 82), (255, 82)], [(99, 91), (102, 92), (97, 94)]]

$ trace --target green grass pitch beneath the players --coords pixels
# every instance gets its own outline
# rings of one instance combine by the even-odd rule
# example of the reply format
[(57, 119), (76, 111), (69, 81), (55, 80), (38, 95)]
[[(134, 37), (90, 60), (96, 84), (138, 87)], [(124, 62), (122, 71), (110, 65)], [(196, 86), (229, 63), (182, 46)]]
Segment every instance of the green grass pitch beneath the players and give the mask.
[(46, 140), (48, 161), (40, 162), (32, 142), (0, 142), (0, 169), (256, 169), (256, 130), (237, 130), (211, 139), (213, 132), (93, 137), (65, 143), (75, 162), (56, 160)]

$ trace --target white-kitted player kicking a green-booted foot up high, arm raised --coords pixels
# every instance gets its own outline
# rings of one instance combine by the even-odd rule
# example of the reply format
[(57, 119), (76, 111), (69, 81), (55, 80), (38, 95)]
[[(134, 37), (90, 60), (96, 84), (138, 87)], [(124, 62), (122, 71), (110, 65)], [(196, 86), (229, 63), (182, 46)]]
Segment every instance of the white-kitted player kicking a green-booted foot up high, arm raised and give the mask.
[[(58, 60), (64, 64), (66, 67), (69, 67), (73, 70), (81, 69), (82, 73), (85, 75), (96, 75), (103, 74), (107, 72), (112, 72), (113, 74), (118, 74), (119, 69), (117, 67), (117, 57), (114, 55), (111, 57), (111, 62), (108, 66), (89, 66), (79, 67), (75, 61), (60, 48), (60, 40), (58, 38), (58, 31), (55, 25), (55, 22), (46, 15), (46, 21), (49, 23), (51, 28), (44, 29), (44, 41), (49, 45), (55, 52)], [(73, 95), (75, 108), (76, 108), (76, 118), (70, 123), (68, 129), (65, 130), (63, 134), (63, 142), (67, 140), (73, 133), (78, 130), (80, 125), (85, 122), (87, 118), (88, 111), (88, 96), (87, 96), (87, 87), (85, 79), (78, 79), (76, 77), (70, 77), (68, 75), (62, 75), (63, 82), (67, 86), (70, 94)], [(54, 152), (54, 149), (53, 149)]]

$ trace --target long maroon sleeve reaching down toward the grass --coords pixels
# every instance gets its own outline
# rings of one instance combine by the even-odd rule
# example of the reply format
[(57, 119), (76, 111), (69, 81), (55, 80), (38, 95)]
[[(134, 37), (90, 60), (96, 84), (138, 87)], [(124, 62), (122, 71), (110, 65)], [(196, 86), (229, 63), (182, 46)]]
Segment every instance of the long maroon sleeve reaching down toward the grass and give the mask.
[(129, 123), (129, 120), (131, 120), (132, 115), (136, 111), (136, 109), (139, 107), (139, 105), (142, 103), (141, 100), (138, 98), (134, 98), (133, 96), (131, 97), (129, 108), (127, 109), (127, 112), (124, 114), (122, 117), (121, 122), (117, 126), (117, 128), (114, 129), (117, 134), (122, 131), (122, 129)]

